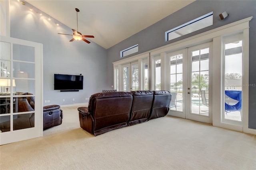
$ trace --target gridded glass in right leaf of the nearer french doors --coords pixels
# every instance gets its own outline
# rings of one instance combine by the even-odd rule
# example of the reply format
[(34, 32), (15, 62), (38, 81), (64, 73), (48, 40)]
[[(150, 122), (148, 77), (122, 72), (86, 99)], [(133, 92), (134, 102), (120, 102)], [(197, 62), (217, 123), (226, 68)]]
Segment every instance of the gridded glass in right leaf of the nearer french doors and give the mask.
[(209, 48), (192, 51), (191, 113), (209, 115)]

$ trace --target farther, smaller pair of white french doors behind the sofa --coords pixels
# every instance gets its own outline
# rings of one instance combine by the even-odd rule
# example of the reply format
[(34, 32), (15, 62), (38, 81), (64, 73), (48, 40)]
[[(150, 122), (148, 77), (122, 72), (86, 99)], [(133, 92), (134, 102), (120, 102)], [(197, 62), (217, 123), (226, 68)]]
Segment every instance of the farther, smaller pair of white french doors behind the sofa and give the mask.
[(122, 65), (122, 90), (136, 91), (139, 89), (138, 62)]

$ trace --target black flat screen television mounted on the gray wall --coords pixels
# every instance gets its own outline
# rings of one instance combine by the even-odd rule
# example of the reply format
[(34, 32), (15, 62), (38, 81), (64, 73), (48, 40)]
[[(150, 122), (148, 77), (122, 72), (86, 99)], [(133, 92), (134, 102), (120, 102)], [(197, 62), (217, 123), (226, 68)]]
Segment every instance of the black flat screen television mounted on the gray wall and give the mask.
[(54, 90), (82, 90), (82, 75), (54, 74)]

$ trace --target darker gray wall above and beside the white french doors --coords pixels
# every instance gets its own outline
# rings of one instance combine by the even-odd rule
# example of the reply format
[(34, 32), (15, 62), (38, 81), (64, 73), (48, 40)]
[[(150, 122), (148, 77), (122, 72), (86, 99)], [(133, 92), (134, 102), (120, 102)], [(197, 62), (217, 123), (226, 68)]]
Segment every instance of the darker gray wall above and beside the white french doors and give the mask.
[[(177, 38), (171, 40), (169, 42), (164, 41), (164, 32), (175, 28), (181, 24), (184, 24), (190, 20), (198, 18), (208, 12), (213, 11), (214, 16), (214, 24), (202, 30), (198, 30), (191, 34), (187, 34), (186, 36), (182, 36), (181, 38)], [(230, 14), (224, 20), (220, 20), (219, 14), (226, 11)], [(113, 47), (107, 50), (107, 70), (108, 70), (108, 82), (107, 85), (110, 87), (113, 85), (114, 77), (113, 77), (113, 64), (112, 62), (120, 60), (120, 51), (126, 49), (132, 45), (139, 44), (138, 53), (134, 53), (132, 55), (136, 55), (139, 53), (143, 53), (145, 51), (149, 51), (151, 49), (155, 49), (157, 47), (161, 47), (167, 45), (169, 43), (173, 43), (184, 38), (188, 38), (190, 36), (194, 36), (196, 34), (212, 30), (214, 28), (218, 28), (220, 26), (230, 24), (232, 22), (242, 20), (244, 18), (248, 18), (253, 16), (253, 19), (250, 21), (250, 73), (249, 73), (249, 128), (256, 129), (256, 87), (253, 85), (256, 84), (256, 1), (195, 1), (188, 6), (178, 10), (174, 14), (160, 20), (156, 24), (134, 34), (130, 38), (114, 45)], [(130, 57), (131, 55), (127, 56)], [(127, 58), (126, 57), (126, 58)]]

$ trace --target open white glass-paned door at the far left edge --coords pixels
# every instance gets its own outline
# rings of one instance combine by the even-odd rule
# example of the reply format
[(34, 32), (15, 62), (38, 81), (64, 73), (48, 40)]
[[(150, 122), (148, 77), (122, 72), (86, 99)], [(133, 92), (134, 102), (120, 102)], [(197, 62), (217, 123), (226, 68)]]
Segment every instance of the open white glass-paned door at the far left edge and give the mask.
[(0, 144), (42, 136), (42, 44), (0, 43)]

